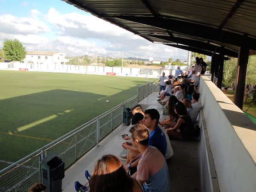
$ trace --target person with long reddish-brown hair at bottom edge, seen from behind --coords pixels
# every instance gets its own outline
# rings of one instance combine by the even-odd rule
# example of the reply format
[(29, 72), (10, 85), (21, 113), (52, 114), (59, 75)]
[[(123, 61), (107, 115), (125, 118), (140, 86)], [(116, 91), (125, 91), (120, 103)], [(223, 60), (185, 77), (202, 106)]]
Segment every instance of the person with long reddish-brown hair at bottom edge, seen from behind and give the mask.
[(75, 189), (77, 192), (143, 192), (140, 183), (127, 175), (121, 161), (111, 154), (97, 160), (88, 187), (76, 181)]

